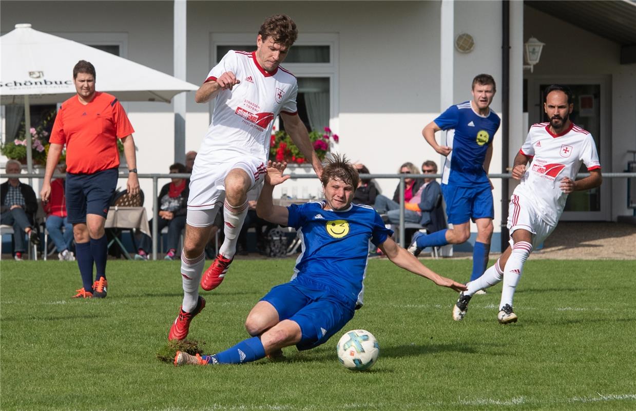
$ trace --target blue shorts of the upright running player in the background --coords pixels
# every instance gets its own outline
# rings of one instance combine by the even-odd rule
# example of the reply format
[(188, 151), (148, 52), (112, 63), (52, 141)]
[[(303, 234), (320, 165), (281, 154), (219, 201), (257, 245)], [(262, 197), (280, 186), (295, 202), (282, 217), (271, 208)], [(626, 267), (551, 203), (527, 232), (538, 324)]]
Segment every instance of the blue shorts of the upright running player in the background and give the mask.
[(478, 218), (495, 218), (490, 185), (476, 187), (457, 187), (441, 185), (446, 202), (448, 223), (463, 224)]

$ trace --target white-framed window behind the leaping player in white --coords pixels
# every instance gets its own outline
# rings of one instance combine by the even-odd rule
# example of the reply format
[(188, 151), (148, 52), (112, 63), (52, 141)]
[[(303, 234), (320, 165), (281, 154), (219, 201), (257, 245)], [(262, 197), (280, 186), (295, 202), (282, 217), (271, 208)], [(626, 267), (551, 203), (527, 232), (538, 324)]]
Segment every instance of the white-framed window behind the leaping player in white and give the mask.
[[(256, 50), (254, 34), (212, 33), (211, 60), (216, 65), (230, 50)], [(301, 34), (282, 66), (298, 78), (298, 115), (308, 130), (335, 127), (338, 117), (338, 35)], [(278, 119), (277, 129), (284, 129)]]

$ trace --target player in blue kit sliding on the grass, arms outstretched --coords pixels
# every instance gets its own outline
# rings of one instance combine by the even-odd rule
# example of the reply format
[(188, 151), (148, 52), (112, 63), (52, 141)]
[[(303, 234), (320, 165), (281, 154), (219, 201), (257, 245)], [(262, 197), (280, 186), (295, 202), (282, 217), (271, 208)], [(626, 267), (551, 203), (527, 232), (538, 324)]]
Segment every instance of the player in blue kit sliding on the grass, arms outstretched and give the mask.
[(272, 223), (294, 227), (300, 234), (303, 253), (291, 281), (275, 286), (254, 305), (245, 321), (251, 338), (211, 356), (177, 351), (174, 365), (247, 363), (282, 356), (281, 349), (289, 345), (307, 350), (323, 344), (363, 305), (370, 240), (398, 267), (438, 286), (466, 289), (435, 274), (399, 247), (372, 207), (351, 204), (359, 177), (344, 157), (336, 155), (322, 171), (324, 200), (273, 205), (273, 186), (289, 178), (282, 175), (286, 165), (269, 162), (256, 212)]

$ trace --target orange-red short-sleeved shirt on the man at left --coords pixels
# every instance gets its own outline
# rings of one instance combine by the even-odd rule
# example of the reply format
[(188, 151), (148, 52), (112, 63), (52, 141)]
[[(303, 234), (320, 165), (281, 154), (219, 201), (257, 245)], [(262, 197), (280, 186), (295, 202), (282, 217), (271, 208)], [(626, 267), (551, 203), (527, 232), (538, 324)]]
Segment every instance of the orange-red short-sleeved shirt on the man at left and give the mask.
[(50, 143), (66, 143), (67, 172), (92, 174), (119, 167), (117, 139), (134, 133), (126, 112), (110, 94), (95, 92), (84, 105), (74, 95), (57, 112)]

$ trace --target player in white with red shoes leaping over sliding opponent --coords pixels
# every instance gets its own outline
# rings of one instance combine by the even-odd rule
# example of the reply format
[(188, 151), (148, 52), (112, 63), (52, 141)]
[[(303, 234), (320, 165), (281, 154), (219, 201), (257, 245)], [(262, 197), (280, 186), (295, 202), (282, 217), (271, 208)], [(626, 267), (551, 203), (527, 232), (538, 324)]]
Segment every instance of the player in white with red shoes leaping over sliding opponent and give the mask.
[[(247, 214), (247, 192), (263, 182), (274, 119), (280, 114), (285, 130), (318, 176), (322, 165), (307, 128), (298, 118), (298, 85), (280, 63), (296, 41), (296, 24), (287, 15), (265, 20), (255, 52), (230, 50), (212, 68), (195, 100), (215, 99), (212, 123), (201, 145), (190, 179), (186, 234), (181, 254), (183, 305), (170, 328), (170, 340), (188, 335), (190, 321), (204, 307), (198, 284), (219, 286), (236, 253), (237, 237)], [(205, 244), (219, 208), (223, 208), (225, 240), (203, 277)]]

